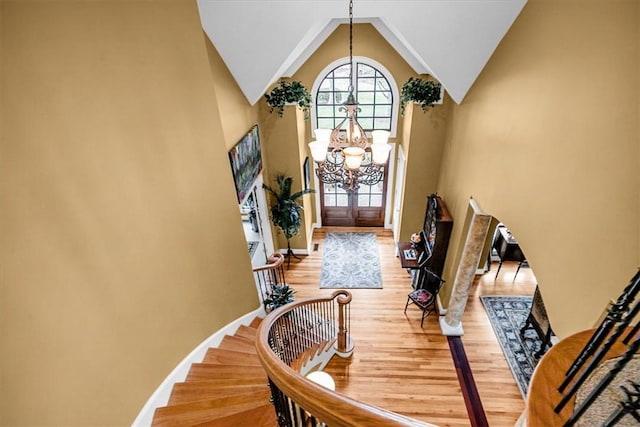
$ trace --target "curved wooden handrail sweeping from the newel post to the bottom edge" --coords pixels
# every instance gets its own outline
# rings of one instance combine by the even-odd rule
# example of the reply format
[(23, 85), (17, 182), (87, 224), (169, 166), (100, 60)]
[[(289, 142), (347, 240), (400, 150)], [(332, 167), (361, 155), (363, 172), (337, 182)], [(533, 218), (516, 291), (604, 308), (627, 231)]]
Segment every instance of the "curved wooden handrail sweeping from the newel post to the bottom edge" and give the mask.
[(265, 317), (258, 328), (256, 349), (258, 359), (269, 379), (293, 402), (331, 427), (433, 426), (324, 388), (300, 375), (272, 351), (269, 345), (269, 331), (280, 317), (296, 308), (318, 302), (330, 302), (337, 298), (346, 303), (350, 301), (351, 294), (338, 290), (330, 297), (302, 299), (280, 307)]

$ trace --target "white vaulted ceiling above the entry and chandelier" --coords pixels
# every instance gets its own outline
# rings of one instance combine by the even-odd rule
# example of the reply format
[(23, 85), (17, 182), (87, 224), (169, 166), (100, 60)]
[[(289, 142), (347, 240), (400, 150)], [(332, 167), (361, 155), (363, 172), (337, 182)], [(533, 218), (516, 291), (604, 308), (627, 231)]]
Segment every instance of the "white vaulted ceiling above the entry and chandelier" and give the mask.
[[(355, 0), (418, 74), (461, 103), (527, 0)], [(198, 0), (202, 28), (249, 103), (290, 77), (333, 30), (347, 0)]]

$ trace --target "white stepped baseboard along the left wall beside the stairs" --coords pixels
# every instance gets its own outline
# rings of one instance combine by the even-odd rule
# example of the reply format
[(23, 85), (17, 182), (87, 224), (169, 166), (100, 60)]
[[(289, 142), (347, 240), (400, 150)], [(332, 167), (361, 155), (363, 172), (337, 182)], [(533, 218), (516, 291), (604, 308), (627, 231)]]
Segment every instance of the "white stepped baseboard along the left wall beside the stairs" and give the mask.
[(233, 335), (236, 333), (240, 325), (249, 325), (251, 321), (256, 317), (265, 317), (266, 313), (264, 308), (260, 308), (245, 314), (244, 316), (234, 320), (228, 325), (219, 329), (216, 333), (204, 340), (198, 347), (196, 347), (187, 357), (182, 360), (178, 366), (164, 379), (164, 381), (158, 386), (155, 392), (151, 395), (147, 403), (142, 407), (142, 410), (133, 422), (133, 427), (146, 427), (150, 426), (153, 421), (153, 415), (156, 408), (166, 406), (169, 402), (169, 396), (175, 383), (184, 381), (187, 378), (189, 369), (193, 363), (202, 362), (207, 350), (210, 347), (217, 347), (225, 335)]

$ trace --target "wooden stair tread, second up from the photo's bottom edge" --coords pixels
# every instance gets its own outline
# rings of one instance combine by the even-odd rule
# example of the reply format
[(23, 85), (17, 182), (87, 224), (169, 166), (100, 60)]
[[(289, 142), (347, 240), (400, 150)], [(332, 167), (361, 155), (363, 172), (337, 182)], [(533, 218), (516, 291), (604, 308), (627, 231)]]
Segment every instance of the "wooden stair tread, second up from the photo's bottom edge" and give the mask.
[[(220, 417), (238, 414), (264, 406), (269, 402), (270, 391), (200, 400), (156, 409), (152, 425), (194, 425), (213, 421)], [(216, 424), (217, 425), (217, 424)]]

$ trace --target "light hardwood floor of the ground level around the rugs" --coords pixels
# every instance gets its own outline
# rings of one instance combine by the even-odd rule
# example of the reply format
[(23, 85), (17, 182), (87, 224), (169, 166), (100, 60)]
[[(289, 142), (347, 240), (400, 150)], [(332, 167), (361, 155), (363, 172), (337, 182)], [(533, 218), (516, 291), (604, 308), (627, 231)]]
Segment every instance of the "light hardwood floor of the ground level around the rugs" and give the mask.
[[(410, 278), (395, 256), (390, 230), (381, 228), (321, 228), (313, 235), (318, 250), (301, 260), (292, 259), (287, 282), (296, 298), (327, 295), (319, 289), (324, 235), (338, 231), (370, 231), (378, 238), (383, 289), (354, 289), (351, 334), (355, 351), (351, 359), (334, 358), (327, 372), (336, 390), (352, 398), (439, 426), (470, 425), (465, 403), (438, 317), (429, 315), (420, 327), (421, 312), (409, 306), (403, 313)], [(463, 317), (462, 337), (489, 425), (513, 426), (524, 400), (511, 375), (480, 295), (533, 295), (535, 277), (505, 263), (494, 282), (496, 268), (475, 280)], [(448, 278), (453, 282), (453, 278)], [(450, 283), (449, 283), (450, 284)]]

